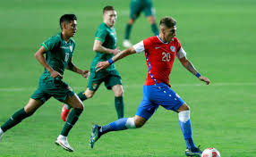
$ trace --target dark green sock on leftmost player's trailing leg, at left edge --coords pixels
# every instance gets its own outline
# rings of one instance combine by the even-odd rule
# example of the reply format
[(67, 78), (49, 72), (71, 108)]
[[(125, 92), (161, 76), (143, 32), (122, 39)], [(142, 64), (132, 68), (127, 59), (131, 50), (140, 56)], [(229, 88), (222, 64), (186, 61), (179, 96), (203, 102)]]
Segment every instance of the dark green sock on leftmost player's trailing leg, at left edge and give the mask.
[(22, 108), (18, 112), (15, 112), (13, 116), (1, 126), (1, 128), (5, 132), (7, 129), (13, 128), (15, 125), (19, 124), (21, 120), (24, 120), (29, 116), (30, 115), (25, 112), (24, 108)]

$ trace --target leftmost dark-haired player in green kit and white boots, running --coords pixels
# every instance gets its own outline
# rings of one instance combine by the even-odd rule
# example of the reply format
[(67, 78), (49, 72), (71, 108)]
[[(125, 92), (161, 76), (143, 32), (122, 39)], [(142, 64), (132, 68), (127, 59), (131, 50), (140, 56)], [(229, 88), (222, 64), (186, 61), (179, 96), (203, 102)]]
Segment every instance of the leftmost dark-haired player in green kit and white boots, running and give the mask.
[[(79, 73), (84, 78), (89, 76), (89, 70), (81, 70), (72, 62), (75, 47), (72, 37), (76, 33), (76, 20), (77, 18), (74, 14), (64, 14), (60, 18), (62, 31), (41, 44), (35, 57), (45, 67), (45, 71), (39, 78), (38, 89), (31, 95), (29, 103), (18, 112), (15, 112), (11, 119), (1, 126), (0, 140), (4, 132), (13, 128), (21, 120), (30, 117), (53, 96), (58, 101), (73, 107), (73, 112), (69, 114), (61, 134), (55, 140), (56, 145), (62, 146), (66, 151), (73, 152), (73, 148), (68, 144), (67, 136), (83, 111), (83, 104), (78, 96), (73, 93), (72, 88), (64, 83), (62, 78), (64, 69)], [(46, 54), (46, 57), (44, 54)]]

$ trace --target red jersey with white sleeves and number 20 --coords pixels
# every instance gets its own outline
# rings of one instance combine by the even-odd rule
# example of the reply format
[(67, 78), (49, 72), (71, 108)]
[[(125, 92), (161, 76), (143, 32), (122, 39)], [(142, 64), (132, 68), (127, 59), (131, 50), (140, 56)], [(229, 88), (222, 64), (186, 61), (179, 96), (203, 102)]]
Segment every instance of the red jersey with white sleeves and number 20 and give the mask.
[(175, 55), (178, 58), (185, 56), (179, 40), (175, 37), (173, 41), (165, 43), (158, 36), (149, 37), (137, 45), (133, 45), (133, 48), (137, 53), (145, 51), (148, 66), (145, 85), (149, 86), (163, 82), (170, 87), (169, 75), (175, 62)]

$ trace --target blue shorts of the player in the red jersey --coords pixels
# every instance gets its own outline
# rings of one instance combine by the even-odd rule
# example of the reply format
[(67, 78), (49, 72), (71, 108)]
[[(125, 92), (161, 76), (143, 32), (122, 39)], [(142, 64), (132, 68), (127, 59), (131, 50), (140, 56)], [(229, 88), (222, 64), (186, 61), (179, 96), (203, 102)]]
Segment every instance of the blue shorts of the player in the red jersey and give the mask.
[(177, 111), (182, 105), (183, 99), (164, 83), (158, 85), (143, 86), (143, 99), (136, 115), (146, 120), (157, 111), (161, 105), (166, 110)]

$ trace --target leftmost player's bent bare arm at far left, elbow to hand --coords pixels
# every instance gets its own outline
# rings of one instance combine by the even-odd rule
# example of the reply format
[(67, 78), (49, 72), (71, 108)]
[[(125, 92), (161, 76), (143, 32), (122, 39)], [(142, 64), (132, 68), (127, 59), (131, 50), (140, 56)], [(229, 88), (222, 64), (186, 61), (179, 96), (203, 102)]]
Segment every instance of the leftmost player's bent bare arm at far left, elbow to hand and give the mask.
[(37, 53), (35, 54), (35, 57), (37, 58), (38, 62), (40, 62), (50, 72), (51, 77), (53, 77), (53, 78), (57, 78), (57, 77), (62, 78), (63, 76), (59, 72), (53, 70), (52, 67), (47, 63), (47, 60), (44, 56), (44, 54), (46, 52), (47, 52), (46, 48), (44, 46), (41, 46), (38, 49)]

